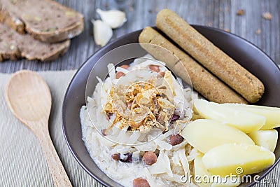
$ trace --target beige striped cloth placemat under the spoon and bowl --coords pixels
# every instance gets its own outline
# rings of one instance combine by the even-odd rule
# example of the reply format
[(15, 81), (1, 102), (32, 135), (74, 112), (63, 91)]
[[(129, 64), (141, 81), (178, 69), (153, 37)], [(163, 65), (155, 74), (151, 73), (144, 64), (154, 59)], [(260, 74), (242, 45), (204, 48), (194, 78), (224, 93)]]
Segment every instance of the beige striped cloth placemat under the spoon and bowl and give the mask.
[[(50, 134), (73, 186), (102, 186), (73, 158), (62, 132), (62, 102), (75, 71), (38, 72), (50, 87)], [(55, 186), (38, 140), (8, 109), (4, 91), (10, 74), (0, 74), (0, 186)], [(280, 186), (279, 164), (256, 186)]]

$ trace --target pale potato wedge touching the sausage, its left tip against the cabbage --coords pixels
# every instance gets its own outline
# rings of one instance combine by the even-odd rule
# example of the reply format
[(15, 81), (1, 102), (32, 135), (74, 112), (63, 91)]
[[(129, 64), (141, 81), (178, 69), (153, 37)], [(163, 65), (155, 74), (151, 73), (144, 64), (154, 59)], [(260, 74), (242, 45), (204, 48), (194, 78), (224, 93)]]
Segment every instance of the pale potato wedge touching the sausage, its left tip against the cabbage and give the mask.
[(265, 125), (265, 117), (255, 113), (232, 109), (223, 104), (207, 102), (204, 99), (195, 99), (193, 104), (204, 118), (218, 120), (221, 123), (237, 127), (245, 133), (260, 130)]

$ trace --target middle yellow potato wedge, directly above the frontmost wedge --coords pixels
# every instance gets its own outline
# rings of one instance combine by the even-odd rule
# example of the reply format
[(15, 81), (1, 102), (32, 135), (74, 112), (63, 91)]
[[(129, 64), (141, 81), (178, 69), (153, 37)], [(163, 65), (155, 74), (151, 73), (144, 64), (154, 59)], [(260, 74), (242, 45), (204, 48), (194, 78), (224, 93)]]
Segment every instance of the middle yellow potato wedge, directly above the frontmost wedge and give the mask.
[(181, 135), (191, 146), (202, 153), (221, 144), (254, 144), (253, 140), (241, 130), (207, 119), (188, 123)]

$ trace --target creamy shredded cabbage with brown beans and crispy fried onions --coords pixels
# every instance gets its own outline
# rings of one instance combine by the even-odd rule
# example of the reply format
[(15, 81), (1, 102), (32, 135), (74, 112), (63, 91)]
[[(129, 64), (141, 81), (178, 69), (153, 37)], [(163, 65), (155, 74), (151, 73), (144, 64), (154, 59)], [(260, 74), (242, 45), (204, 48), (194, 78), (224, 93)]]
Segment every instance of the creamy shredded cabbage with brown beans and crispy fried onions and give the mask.
[(123, 186), (196, 186), (197, 151), (181, 137), (197, 97), (165, 64), (148, 57), (108, 65), (80, 109), (83, 141), (94, 162)]

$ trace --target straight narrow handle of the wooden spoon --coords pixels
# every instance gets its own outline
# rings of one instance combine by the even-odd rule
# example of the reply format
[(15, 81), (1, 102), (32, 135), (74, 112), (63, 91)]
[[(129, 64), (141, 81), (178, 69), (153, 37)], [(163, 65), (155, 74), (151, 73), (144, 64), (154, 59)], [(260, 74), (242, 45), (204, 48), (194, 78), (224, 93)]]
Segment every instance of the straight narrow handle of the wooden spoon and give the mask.
[(44, 132), (44, 130), (38, 132), (39, 133), (37, 133), (36, 135), (43, 148), (43, 152), (45, 153), (45, 158), (47, 159), (48, 167), (50, 168), (50, 173), (52, 174), (52, 179), (55, 181), (55, 186), (72, 186), (62, 165), (62, 162), (60, 161), (59, 156), (57, 155), (55, 146), (53, 146), (52, 144), (49, 132)]

